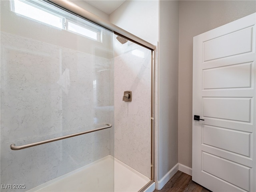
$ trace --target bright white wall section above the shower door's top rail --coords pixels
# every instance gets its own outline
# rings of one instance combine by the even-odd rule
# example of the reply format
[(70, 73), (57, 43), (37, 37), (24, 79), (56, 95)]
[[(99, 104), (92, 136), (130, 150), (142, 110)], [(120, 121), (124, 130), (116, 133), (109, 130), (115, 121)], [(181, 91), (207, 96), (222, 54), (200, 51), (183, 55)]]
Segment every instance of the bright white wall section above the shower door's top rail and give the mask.
[(110, 22), (154, 44), (158, 42), (158, 0), (128, 0), (110, 14)]

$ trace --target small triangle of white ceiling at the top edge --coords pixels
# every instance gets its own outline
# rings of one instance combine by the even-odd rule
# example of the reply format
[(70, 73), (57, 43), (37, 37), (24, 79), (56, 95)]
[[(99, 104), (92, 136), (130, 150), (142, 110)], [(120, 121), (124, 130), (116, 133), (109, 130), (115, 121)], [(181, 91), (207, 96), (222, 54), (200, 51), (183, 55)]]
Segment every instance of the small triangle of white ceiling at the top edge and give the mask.
[(96, 7), (97, 9), (111, 14), (116, 8), (125, 2), (125, 0), (84, 0), (86, 3)]

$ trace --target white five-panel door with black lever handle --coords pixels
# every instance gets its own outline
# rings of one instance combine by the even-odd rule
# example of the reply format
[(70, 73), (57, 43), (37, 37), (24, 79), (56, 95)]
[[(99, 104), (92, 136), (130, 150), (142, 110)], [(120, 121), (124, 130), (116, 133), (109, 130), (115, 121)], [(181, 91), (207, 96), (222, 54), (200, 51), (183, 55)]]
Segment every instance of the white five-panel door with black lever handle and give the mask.
[(256, 192), (255, 22), (194, 37), (192, 180), (212, 191)]

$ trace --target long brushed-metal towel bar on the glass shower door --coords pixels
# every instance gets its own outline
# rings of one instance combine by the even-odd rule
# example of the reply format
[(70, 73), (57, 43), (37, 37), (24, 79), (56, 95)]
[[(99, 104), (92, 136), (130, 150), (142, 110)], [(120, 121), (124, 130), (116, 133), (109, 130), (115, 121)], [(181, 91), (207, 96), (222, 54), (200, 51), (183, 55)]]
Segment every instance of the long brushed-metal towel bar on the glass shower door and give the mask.
[(66, 139), (66, 138), (70, 138), (70, 137), (74, 137), (74, 136), (78, 136), (78, 135), (82, 135), (82, 134), (87, 134), (87, 133), (91, 133), (91, 132), (94, 132), (94, 131), (99, 131), (99, 130), (102, 130), (102, 129), (112, 127), (112, 124), (106, 123), (106, 125), (107, 126), (104, 126), (104, 127), (100, 127), (100, 128), (96, 128), (96, 129), (92, 129), (92, 130), (88, 130), (88, 131), (83, 131), (83, 132), (79, 132), (79, 133), (74, 133), (74, 134), (70, 134), (70, 135), (66, 135), (66, 136), (61, 136), (61, 137), (57, 137), (57, 138), (53, 138), (53, 139), (48, 139), (48, 140), (44, 140), (44, 141), (39, 141), (39, 142), (35, 142), (35, 143), (30, 143), (30, 144), (26, 144), (26, 145), (15, 146), (15, 144), (11, 144), (10, 148), (12, 150), (25, 149), (25, 148), (29, 148), (29, 147), (33, 147), (33, 146), (37, 146), (37, 145), (42, 145), (42, 144), (45, 144), (45, 143), (50, 143), (50, 142), (54, 142), (54, 141), (58, 141), (58, 140), (62, 140), (62, 139)]

